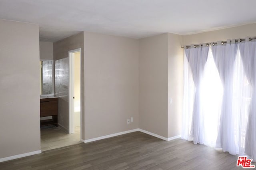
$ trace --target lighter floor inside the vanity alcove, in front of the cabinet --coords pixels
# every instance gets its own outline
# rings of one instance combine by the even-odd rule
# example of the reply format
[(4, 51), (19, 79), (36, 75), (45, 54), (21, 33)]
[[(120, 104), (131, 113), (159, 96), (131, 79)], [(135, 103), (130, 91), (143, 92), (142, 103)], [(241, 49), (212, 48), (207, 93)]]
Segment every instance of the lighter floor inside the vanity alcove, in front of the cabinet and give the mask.
[(74, 128), (74, 134), (64, 132), (60, 127), (41, 128), (41, 150), (51, 150), (64, 146), (79, 144), (80, 126)]

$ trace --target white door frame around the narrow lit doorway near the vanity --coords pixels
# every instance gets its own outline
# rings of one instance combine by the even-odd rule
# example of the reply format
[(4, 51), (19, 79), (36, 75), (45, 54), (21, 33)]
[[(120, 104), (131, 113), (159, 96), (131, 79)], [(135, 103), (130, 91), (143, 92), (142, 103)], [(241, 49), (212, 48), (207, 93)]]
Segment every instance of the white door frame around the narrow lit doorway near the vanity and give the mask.
[[(82, 50), (81, 48), (77, 48), (77, 49), (74, 49), (74, 50), (70, 50), (68, 51), (68, 59), (69, 59), (69, 87), (68, 87), (68, 108), (69, 108), (69, 112), (68, 112), (68, 122), (69, 122), (69, 127), (68, 127), (68, 133), (69, 134), (72, 134), (74, 133), (74, 99), (73, 99), (73, 96), (74, 96), (74, 57), (72, 57), (72, 54), (74, 52), (80, 52), (80, 110), (81, 110), (81, 98), (82, 98), (82, 91), (81, 91), (81, 84), (82, 84), (82, 81), (81, 81), (81, 76), (82, 76), (82, 58), (81, 58), (81, 53), (82, 53)], [(82, 139), (82, 131), (81, 131), (81, 128), (82, 128), (82, 119), (81, 119), (81, 115), (82, 115), (82, 112), (80, 111), (80, 140)]]

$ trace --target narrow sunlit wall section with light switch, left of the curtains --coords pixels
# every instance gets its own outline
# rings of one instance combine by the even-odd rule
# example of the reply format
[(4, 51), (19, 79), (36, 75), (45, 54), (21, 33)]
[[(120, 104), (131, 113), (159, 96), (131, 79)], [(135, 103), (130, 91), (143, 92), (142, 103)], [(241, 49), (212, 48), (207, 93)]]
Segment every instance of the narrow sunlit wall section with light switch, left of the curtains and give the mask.
[(181, 44), (182, 36), (168, 33), (168, 138), (181, 134), (184, 55)]

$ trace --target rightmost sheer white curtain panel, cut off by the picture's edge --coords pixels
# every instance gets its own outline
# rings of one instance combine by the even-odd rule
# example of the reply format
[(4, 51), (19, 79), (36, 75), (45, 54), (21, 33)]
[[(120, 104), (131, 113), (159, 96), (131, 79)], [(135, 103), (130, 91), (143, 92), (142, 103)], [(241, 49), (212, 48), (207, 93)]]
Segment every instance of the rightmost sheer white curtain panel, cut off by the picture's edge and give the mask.
[(245, 138), (245, 154), (256, 160), (256, 42), (246, 38), (239, 44), (240, 54), (244, 65), (244, 72), (251, 86), (248, 124)]

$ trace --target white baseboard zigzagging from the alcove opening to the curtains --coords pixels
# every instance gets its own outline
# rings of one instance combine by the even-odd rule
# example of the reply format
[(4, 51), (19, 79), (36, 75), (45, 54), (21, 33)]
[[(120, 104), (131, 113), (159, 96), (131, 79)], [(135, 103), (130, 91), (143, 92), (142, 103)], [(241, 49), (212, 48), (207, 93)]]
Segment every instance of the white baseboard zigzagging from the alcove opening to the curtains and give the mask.
[(127, 134), (127, 133), (131, 133), (131, 132), (137, 132), (137, 131), (140, 131), (140, 132), (143, 132), (145, 134), (149, 134), (151, 136), (154, 136), (156, 138), (160, 138), (162, 140), (166, 140), (166, 141), (170, 141), (170, 140), (174, 140), (174, 139), (178, 139), (180, 138), (180, 135), (178, 136), (173, 136), (171, 138), (166, 138), (164, 136), (160, 136), (158, 134), (154, 134), (152, 132), (148, 132), (146, 130), (143, 130), (143, 129), (140, 129), (140, 128), (137, 128), (137, 129), (133, 129), (133, 130), (127, 130), (127, 131), (124, 131), (124, 132), (118, 132), (118, 133), (115, 133), (115, 134), (109, 134), (109, 135), (105, 135), (105, 136), (100, 136), (98, 138), (92, 138), (92, 139), (87, 139), (87, 140), (82, 140), (82, 142), (84, 143), (88, 143), (88, 142), (93, 142), (93, 141), (96, 141), (96, 140), (101, 140), (101, 139), (106, 139), (106, 138), (111, 138), (111, 137), (114, 137), (114, 136), (119, 136), (119, 135), (122, 135), (122, 134)]

